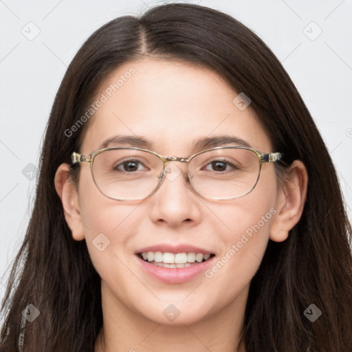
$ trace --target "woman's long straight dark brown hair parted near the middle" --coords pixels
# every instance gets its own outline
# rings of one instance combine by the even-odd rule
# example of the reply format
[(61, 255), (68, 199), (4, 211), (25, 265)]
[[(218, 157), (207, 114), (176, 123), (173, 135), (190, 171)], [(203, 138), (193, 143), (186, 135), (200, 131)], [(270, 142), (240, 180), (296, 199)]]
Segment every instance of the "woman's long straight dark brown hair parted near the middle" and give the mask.
[[(69, 65), (45, 131), (32, 217), (1, 307), (0, 351), (20, 351), (22, 340), (26, 352), (94, 351), (102, 327), (100, 277), (85, 241), (72, 239), (54, 175), (79, 151), (89, 122), (69, 137), (65, 131), (87, 111), (102, 80), (146, 54), (214, 69), (250, 97), (285, 164), (300, 159), (307, 167), (303, 215), (286, 241), (269, 242), (250, 285), (242, 336), (247, 351), (351, 352), (351, 224), (322, 137), (292, 80), (258, 36), (227, 14), (187, 3), (110, 21)], [(40, 316), (25, 323), (21, 312), (29, 304)], [(322, 311), (315, 322), (303, 314), (311, 304)]]

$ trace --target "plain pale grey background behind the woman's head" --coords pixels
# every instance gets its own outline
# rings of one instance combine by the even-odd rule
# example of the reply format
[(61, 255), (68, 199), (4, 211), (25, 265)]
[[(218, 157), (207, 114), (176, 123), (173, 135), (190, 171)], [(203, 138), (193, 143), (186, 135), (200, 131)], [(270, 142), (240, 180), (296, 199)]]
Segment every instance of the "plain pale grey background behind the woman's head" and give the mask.
[[(352, 0), (184, 2), (227, 12), (273, 50), (325, 139), (351, 219)], [(0, 1), (0, 298), (28, 224), (43, 133), (67, 65), (101, 25), (155, 3), (162, 2)]]

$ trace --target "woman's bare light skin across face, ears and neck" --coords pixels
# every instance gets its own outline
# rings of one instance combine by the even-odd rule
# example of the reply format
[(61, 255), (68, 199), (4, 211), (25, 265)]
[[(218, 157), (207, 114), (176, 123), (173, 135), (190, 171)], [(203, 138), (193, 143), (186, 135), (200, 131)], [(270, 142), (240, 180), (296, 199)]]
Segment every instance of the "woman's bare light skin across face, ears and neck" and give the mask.
[[(97, 96), (131, 66), (135, 74), (91, 118), (80, 153), (89, 155), (117, 134), (143, 136), (153, 142), (151, 150), (180, 157), (190, 155), (193, 140), (223, 134), (241, 137), (262, 153), (273, 151), (254, 113), (250, 108), (240, 111), (232, 103), (236, 92), (209, 69), (144, 58), (116, 69)], [(186, 170), (183, 163), (174, 165)], [(250, 281), (267, 241), (285, 241), (303, 212), (305, 166), (295, 161), (281, 184), (274, 165), (264, 163), (254, 190), (230, 201), (202, 199), (181, 176), (165, 179), (143, 201), (115, 201), (98, 191), (89, 164), (80, 166), (77, 188), (67, 164), (58, 168), (55, 186), (73, 238), (87, 241), (101, 277), (104, 323), (95, 351), (173, 352), (185, 345), (194, 352), (235, 351)], [(276, 214), (212, 278), (201, 274), (186, 283), (167, 284), (137, 263), (135, 250), (157, 243), (190, 243), (219, 260), (272, 208)], [(103, 252), (92, 245), (100, 232), (111, 241)], [(163, 314), (170, 304), (180, 311), (173, 322)]]

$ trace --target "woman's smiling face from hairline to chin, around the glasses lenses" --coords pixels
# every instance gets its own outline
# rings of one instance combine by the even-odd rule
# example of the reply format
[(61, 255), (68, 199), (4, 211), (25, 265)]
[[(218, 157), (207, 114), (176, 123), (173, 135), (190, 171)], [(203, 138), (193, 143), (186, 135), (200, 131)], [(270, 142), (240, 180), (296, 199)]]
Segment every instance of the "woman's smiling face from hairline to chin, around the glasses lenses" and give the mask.
[[(236, 104), (237, 95), (208, 69), (152, 58), (126, 63), (101, 85), (98, 98), (104, 101), (96, 106), (80, 153), (89, 155), (116, 135), (142, 137), (152, 151), (179, 157), (188, 157), (197, 140), (221, 135), (271, 152), (270, 140), (250, 108)], [(192, 192), (183, 176), (186, 165), (180, 162), (171, 163), (170, 177), (142, 201), (104, 197), (89, 164), (80, 167), (77, 203), (82, 224), (73, 236), (87, 241), (102, 279), (103, 301), (111, 309), (165, 325), (192, 324), (244, 307), (276, 213), (273, 164), (263, 164), (252, 192), (228, 201), (206, 200)], [(191, 246), (197, 249), (187, 249)], [(151, 247), (151, 252), (214, 256), (190, 267), (161, 268), (137, 255)]]

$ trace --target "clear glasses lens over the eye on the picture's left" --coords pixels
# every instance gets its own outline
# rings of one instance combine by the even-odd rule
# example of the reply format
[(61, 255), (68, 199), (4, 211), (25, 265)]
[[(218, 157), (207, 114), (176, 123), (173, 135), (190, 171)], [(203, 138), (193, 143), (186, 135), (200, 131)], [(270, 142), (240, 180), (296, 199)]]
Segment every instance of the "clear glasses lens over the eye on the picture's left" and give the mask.
[(103, 195), (121, 200), (144, 199), (159, 183), (162, 159), (146, 151), (109, 149), (96, 155), (93, 178)]

